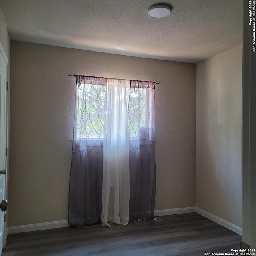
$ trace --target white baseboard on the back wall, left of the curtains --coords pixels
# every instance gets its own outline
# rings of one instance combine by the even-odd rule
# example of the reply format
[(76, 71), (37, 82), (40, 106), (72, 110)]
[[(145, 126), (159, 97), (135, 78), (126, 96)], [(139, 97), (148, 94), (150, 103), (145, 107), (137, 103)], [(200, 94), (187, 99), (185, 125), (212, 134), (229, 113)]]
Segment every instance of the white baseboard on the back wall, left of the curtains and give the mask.
[(35, 223), (35, 224), (28, 224), (28, 225), (22, 225), (22, 226), (8, 227), (8, 234), (22, 233), (22, 232), (29, 232), (29, 231), (36, 231), (36, 230), (45, 230), (45, 229), (52, 229), (52, 228), (63, 228), (68, 226), (69, 226), (68, 220)]

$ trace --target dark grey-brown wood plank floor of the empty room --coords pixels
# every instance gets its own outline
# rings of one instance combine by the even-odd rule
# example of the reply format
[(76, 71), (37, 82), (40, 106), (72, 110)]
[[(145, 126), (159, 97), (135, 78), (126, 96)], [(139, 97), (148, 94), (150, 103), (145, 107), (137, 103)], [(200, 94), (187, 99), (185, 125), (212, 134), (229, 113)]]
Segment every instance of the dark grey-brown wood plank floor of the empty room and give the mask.
[(203, 256), (240, 248), (241, 236), (197, 213), (8, 235), (2, 256)]

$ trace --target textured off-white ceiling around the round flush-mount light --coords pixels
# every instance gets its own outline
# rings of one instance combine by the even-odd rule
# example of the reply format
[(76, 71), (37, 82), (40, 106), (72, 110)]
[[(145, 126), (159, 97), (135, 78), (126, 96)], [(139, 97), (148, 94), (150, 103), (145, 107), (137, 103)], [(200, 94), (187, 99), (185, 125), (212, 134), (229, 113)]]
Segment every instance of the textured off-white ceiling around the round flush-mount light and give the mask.
[[(154, 4), (172, 6), (152, 19)], [(242, 44), (242, 0), (0, 0), (12, 40), (197, 63)]]

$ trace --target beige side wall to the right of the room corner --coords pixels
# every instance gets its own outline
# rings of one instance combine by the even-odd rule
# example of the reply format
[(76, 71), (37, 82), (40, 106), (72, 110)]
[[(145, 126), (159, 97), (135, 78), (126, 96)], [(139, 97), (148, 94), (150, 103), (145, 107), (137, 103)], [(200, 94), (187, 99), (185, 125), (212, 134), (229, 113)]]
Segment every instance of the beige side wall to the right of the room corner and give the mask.
[(242, 45), (196, 67), (196, 206), (242, 226)]

